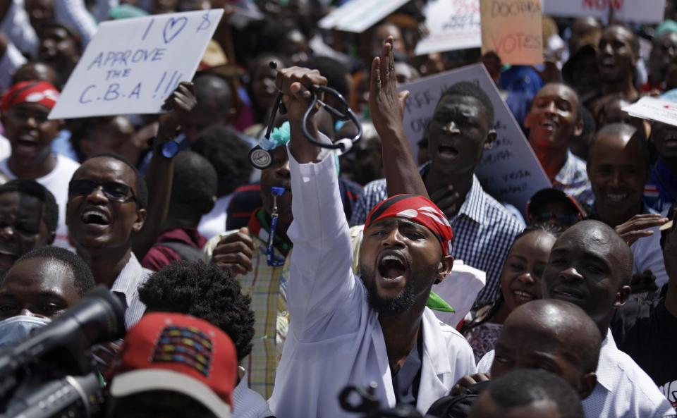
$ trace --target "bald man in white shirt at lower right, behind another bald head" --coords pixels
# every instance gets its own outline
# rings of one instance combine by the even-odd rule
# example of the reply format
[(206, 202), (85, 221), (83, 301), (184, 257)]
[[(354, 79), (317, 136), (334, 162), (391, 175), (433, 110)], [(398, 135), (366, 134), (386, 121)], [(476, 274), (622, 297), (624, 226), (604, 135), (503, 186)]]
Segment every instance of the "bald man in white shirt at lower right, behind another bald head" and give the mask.
[[(673, 417), (675, 411), (651, 378), (616, 348), (609, 323), (630, 294), (633, 255), (616, 231), (599, 221), (582, 221), (555, 242), (543, 272), (544, 299), (572, 302), (606, 336), (597, 367), (597, 386), (583, 401), (585, 416)], [(482, 362), (482, 361), (481, 361)]]

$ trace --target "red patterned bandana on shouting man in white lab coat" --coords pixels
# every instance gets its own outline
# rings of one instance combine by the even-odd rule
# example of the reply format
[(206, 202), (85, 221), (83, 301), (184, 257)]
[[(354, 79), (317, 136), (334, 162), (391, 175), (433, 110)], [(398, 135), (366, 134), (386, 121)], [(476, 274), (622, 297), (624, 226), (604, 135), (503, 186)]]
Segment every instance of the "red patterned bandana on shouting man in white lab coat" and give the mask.
[(367, 216), (365, 230), (378, 221), (397, 216), (425, 226), (437, 237), (442, 254), (451, 253), (453, 230), (436, 204), (419, 195), (396, 195), (377, 204)]

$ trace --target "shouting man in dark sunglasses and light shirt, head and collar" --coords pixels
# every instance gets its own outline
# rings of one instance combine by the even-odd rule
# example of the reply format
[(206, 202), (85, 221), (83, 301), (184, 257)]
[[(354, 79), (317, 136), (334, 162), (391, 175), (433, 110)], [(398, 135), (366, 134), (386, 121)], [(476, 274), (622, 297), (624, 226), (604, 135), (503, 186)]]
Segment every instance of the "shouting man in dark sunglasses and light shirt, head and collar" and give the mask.
[(121, 296), (125, 324), (133, 326), (145, 311), (138, 285), (152, 273), (132, 252), (133, 235), (146, 220), (145, 179), (117, 154), (99, 154), (83, 163), (68, 185), (66, 223), (78, 255), (94, 279)]

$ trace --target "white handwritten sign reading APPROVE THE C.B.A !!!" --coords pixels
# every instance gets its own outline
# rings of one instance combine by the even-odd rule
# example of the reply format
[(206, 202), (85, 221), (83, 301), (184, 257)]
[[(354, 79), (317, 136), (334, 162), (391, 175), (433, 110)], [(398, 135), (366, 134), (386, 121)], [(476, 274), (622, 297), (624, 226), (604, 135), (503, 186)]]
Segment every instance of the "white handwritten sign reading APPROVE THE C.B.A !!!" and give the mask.
[(190, 81), (223, 9), (104, 22), (87, 45), (49, 118), (160, 113)]

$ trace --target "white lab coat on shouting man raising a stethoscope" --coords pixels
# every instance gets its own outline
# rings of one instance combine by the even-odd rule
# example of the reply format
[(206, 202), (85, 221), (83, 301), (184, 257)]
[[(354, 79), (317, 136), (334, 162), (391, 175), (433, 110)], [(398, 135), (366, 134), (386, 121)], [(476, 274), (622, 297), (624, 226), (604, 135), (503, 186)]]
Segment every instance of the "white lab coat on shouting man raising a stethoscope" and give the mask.
[[(347, 386), (378, 383), (382, 405), (395, 405), (391, 371), (378, 314), (353, 275), (353, 252), (343, 214), (334, 158), (298, 164), (289, 153), (294, 250), (288, 282), (290, 324), (269, 400), (278, 418), (354, 417), (341, 410)], [(468, 342), (429, 309), (422, 316), (423, 354), (417, 410), (475, 373)]]

